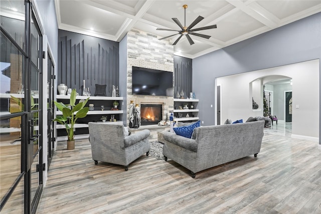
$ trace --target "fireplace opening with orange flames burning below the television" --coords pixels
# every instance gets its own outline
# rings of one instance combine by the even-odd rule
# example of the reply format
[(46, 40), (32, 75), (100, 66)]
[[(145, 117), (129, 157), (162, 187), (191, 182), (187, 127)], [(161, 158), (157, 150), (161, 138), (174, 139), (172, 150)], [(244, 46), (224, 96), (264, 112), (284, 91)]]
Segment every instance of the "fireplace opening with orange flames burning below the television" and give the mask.
[(140, 104), (140, 125), (158, 124), (162, 120), (162, 104)]

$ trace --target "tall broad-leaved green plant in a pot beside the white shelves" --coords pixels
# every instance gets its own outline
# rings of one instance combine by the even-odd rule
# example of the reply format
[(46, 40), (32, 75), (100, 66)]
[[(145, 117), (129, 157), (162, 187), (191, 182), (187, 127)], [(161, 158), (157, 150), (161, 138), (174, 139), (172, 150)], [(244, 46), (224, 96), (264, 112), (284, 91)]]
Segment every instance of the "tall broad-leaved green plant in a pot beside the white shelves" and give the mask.
[(54, 121), (65, 126), (67, 131), (67, 149), (71, 150), (75, 148), (75, 134), (74, 134), (74, 127), (76, 120), (78, 118), (84, 118), (87, 116), (89, 111), (88, 107), (85, 107), (86, 103), (88, 102), (89, 97), (84, 101), (80, 102), (76, 105), (76, 89), (73, 89), (70, 94), (70, 103), (65, 105), (63, 103), (58, 103), (54, 101), (57, 108), (62, 111), (63, 115), (58, 115)]

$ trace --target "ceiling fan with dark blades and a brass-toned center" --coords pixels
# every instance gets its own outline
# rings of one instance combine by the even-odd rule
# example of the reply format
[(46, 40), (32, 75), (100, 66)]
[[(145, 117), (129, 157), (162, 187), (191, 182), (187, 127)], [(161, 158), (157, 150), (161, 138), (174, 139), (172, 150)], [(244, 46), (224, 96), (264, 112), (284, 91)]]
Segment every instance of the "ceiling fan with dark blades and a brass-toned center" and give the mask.
[[(198, 24), (199, 22), (201, 22), (204, 17), (199, 16), (198, 18), (196, 18), (196, 20), (194, 20), (194, 22), (189, 26), (186, 27), (186, 9), (187, 9), (187, 5), (183, 5), (184, 8), (184, 27), (183, 25), (180, 23), (180, 21), (177, 18), (172, 18), (172, 20), (182, 29), (181, 31), (179, 30), (171, 30), (171, 29), (164, 29), (164, 28), (157, 28), (156, 30), (160, 30), (160, 31), (178, 31), (181, 36), (173, 43), (173, 45), (176, 45), (178, 43), (178, 41), (183, 37), (183, 35), (186, 36), (187, 40), (189, 41), (190, 45), (193, 45), (194, 42), (192, 40), (192, 38), (190, 37), (190, 35), (194, 35), (197, 37), (202, 37), (205, 39), (210, 39), (211, 36), (208, 35), (204, 35), (204, 34), (198, 34), (198, 33), (194, 33), (195, 31), (202, 31), (202, 30), (208, 30), (208, 29), (214, 29), (216, 28), (216, 25), (211, 25), (211, 26), (206, 26), (206, 27), (202, 27), (202, 28), (196, 28), (193, 29), (192, 28)], [(166, 38), (178, 35), (178, 34), (173, 34), (171, 36), (167, 36), (158, 40), (164, 40)]]

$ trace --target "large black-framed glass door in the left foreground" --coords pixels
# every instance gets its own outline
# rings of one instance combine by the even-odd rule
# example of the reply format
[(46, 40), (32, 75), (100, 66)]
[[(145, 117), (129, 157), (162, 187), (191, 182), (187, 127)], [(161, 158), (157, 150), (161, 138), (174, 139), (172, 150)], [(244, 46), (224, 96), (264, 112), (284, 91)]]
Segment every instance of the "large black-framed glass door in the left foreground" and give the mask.
[(43, 183), (42, 34), (30, 1), (1, 1), (1, 213), (35, 213)]

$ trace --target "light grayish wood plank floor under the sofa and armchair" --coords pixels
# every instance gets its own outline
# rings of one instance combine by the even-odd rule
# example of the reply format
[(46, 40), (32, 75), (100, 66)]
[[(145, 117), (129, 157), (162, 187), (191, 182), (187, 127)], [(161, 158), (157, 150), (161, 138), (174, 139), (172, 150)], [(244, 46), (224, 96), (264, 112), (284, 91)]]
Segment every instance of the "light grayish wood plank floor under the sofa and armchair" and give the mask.
[(88, 141), (60, 143), (37, 213), (321, 213), (317, 142), (264, 134), (248, 156), (196, 174), (141, 156), (128, 171), (94, 164)]

